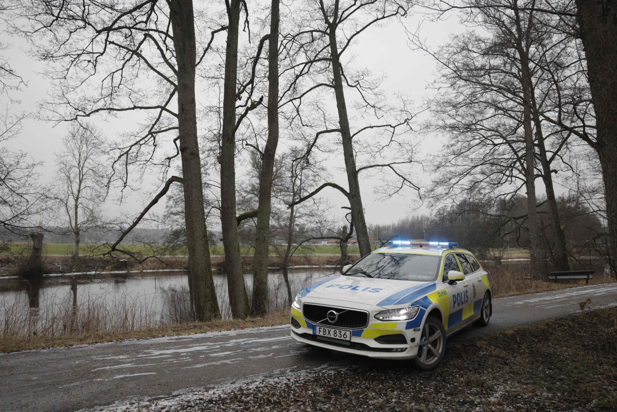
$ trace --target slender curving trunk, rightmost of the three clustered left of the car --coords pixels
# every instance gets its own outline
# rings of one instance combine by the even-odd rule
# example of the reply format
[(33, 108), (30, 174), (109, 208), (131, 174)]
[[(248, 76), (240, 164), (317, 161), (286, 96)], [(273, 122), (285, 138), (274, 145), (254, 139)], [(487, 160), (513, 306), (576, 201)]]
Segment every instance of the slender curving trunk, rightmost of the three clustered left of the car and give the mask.
[(259, 207), (255, 255), (253, 259), (253, 313), (268, 313), (268, 247), (270, 246), (270, 210), (272, 175), (278, 146), (278, 20), (279, 0), (272, 0), (270, 37), (268, 38), (268, 140), (259, 176)]

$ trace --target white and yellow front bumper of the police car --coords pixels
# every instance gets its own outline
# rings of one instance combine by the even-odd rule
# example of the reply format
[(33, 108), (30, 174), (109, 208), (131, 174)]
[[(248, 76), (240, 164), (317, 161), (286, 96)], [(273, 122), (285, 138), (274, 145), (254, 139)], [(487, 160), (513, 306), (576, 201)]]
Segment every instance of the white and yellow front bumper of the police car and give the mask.
[[(373, 313), (371, 313), (370, 319), (373, 319), (372, 316)], [(351, 331), (352, 334), (350, 344), (347, 346), (342, 344), (342, 342), (339, 344), (338, 342), (318, 340), (313, 334), (313, 324), (305, 319), (302, 313), (296, 308), (292, 308), (291, 318), (291, 337), (303, 344), (376, 359), (412, 359), (418, 354), (418, 342), (420, 342), (421, 334), (420, 328), (408, 329), (408, 321), (381, 322), (373, 319), (374, 321), (370, 320), (368, 325), (363, 329), (347, 329)], [(383, 343), (384, 340), (388, 339), (387, 337), (394, 338), (395, 336), (398, 337), (401, 342), (403, 341), (402, 337), (404, 337), (405, 343)], [(381, 340), (381, 343), (379, 340)]]

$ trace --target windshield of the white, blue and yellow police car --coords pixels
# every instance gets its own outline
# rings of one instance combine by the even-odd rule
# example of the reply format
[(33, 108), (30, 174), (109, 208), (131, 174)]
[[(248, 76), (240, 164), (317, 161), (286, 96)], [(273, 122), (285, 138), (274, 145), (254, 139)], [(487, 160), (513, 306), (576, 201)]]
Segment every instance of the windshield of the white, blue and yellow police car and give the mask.
[(371, 253), (347, 270), (344, 275), (358, 278), (396, 279), (428, 282), (437, 279), (439, 256), (413, 253)]

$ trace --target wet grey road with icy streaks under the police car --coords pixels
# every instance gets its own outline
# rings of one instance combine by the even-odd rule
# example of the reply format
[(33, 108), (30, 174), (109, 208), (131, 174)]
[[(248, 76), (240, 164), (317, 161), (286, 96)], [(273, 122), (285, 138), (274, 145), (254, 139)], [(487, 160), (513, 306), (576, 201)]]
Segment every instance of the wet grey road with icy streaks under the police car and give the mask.
[[(617, 284), (495, 299), (487, 328), (450, 341), (564, 316), (588, 297), (592, 308), (617, 306)], [(0, 411), (79, 410), (365, 360), (332, 353), (297, 344), (288, 326), (8, 353), (0, 355)]]

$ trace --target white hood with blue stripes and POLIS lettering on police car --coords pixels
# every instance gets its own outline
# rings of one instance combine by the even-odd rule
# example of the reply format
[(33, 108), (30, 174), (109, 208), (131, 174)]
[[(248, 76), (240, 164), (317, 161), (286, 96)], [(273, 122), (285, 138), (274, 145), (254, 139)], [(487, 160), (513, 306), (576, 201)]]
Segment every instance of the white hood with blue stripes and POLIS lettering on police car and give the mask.
[[(400, 306), (436, 290), (435, 282), (395, 281), (390, 279), (337, 276), (324, 279), (300, 290), (305, 302), (310, 299), (332, 299), (378, 307)], [(304, 300), (304, 299), (303, 299)]]

